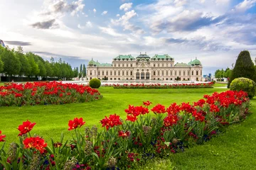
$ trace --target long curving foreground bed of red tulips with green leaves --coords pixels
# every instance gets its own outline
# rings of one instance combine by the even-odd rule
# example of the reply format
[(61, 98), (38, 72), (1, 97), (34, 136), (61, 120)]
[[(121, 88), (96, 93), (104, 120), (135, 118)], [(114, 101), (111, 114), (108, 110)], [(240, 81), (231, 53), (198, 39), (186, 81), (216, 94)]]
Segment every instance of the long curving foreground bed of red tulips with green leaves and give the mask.
[[(154, 157), (168, 157), (190, 146), (202, 144), (224, 132), (233, 123), (248, 115), (249, 98), (243, 91), (225, 91), (205, 95), (192, 104), (151, 102), (125, 109), (126, 120), (119, 115), (105, 116), (100, 123), (104, 130), (86, 127), (82, 118), (67, 123), (73, 138), (46, 143), (42, 137), (31, 137), (36, 123), (18, 126), (20, 143), (11, 143), (9, 152), (0, 149), (0, 169), (129, 169)], [(150, 108), (149, 108), (150, 107)], [(152, 114), (154, 113), (154, 114)], [(1, 135), (0, 142), (8, 140)], [(51, 145), (51, 147), (49, 146)]]

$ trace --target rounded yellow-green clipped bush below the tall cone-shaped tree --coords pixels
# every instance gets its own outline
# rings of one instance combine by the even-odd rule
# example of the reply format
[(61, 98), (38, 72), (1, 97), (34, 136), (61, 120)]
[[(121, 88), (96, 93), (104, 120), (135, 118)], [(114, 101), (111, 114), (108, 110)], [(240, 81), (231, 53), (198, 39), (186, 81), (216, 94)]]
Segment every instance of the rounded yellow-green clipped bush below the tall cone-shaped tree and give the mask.
[(251, 79), (240, 77), (234, 79), (230, 84), (230, 90), (232, 91), (246, 91), (249, 98), (253, 98), (256, 92), (256, 83)]

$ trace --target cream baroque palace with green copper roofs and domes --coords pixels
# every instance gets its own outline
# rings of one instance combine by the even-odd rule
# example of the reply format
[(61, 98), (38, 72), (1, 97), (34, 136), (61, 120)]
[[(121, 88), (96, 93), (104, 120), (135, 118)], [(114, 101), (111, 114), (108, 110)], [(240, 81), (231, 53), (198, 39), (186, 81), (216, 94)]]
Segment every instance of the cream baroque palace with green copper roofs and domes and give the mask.
[(199, 60), (174, 64), (174, 58), (169, 55), (154, 55), (149, 57), (140, 54), (119, 55), (112, 64), (100, 64), (91, 60), (87, 65), (88, 79), (105, 80), (186, 80), (202, 81), (202, 65)]

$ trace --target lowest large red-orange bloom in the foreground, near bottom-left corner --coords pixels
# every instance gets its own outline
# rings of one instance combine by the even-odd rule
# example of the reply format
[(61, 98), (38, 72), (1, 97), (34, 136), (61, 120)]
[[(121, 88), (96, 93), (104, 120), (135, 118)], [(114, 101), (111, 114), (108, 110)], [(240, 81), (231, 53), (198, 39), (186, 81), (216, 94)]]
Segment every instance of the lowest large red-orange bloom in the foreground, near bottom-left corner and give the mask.
[(23, 140), (24, 148), (26, 149), (37, 149), (41, 154), (46, 152), (47, 143), (41, 137), (27, 137)]

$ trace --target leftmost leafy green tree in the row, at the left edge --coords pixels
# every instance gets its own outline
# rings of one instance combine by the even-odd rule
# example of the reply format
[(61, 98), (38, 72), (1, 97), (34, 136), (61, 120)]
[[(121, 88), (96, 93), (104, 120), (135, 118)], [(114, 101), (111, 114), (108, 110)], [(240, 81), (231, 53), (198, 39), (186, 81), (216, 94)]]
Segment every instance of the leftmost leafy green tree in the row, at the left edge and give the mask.
[(14, 50), (5, 49), (1, 53), (1, 60), (4, 62), (4, 73), (11, 76), (18, 74), (21, 69), (21, 62), (14, 55)]

